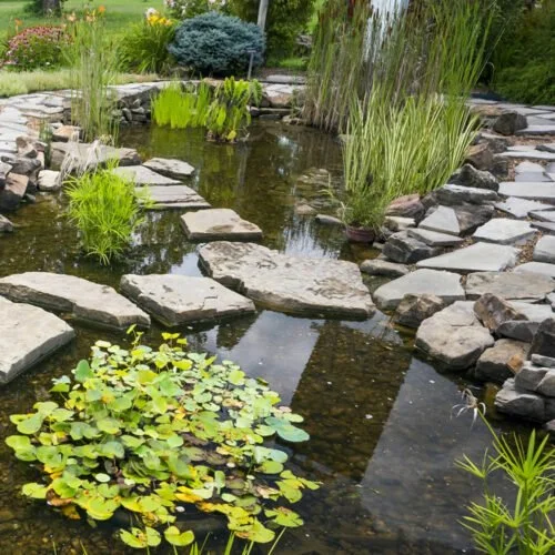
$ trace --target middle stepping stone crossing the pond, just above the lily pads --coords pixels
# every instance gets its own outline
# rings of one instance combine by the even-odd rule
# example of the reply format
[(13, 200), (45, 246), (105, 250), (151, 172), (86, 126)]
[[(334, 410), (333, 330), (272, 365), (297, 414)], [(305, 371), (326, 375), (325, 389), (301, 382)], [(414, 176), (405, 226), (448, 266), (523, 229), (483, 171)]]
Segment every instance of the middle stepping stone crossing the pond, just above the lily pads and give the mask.
[(169, 327), (255, 312), (251, 300), (210, 278), (124, 275), (120, 287), (154, 320)]

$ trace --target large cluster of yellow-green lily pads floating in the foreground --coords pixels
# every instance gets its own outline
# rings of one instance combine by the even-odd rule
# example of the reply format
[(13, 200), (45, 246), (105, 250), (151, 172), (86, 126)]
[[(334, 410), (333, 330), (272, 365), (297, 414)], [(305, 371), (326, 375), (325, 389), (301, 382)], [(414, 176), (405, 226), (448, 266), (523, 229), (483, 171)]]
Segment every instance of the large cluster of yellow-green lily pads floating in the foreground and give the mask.
[(191, 544), (192, 532), (175, 525), (188, 512), (224, 515), (235, 536), (255, 543), (301, 526), (283, 504), (319, 485), (285, 468), (273, 440), (306, 441), (302, 417), (232, 362), (189, 352), (179, 334), (163, 340), (158, 350), (139, 344), (140, 334), (129, 350), (97, 342), (72, 377), (53, 380), (59, 402), (11, 416), (21, 435), (7, 444), (43, 474), (23, 494), (72, 518), (127, 509), (138, 525), (120, 537), (138, 548), (162, 535)]

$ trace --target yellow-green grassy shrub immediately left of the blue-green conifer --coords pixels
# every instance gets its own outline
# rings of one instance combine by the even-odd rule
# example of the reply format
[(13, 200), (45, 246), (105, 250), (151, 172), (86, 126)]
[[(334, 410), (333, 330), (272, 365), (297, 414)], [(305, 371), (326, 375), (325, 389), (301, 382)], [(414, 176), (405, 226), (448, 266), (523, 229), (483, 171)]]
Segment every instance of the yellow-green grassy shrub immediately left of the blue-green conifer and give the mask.
[(121, 40), (120, 60), (128, 71), (165, 73), (171, 65), (168, 46), (175, 34), (172, 20), (151, 11), (141, 23), (131, 26)]

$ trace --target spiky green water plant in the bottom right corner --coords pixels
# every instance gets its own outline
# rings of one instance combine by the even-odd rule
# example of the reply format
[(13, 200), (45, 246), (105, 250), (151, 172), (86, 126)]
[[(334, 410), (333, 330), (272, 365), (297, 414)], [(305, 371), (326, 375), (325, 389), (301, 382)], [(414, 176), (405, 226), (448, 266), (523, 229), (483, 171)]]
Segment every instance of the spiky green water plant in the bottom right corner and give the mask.
[[(476, 464), (467, 456), (457, 461), (458, 467), (482, 480), (483, 502), (468, 505), (470, 516), (463, 525), (471, 532), (476, 548), (490, 555), (518, 553), (547, 555), (555, 551), (555, 448), (549, 436), (542, 441), (533, 430), (527, 443), (517, 434), (509, 437), (496, 434), (487, 422), (483, 404), (466, 391), (465, 406), (480, 416), (493, 436), (493, 453), (484, 454)], [(502, 473), (516, 488), (514, 504), (496, 495), (488, 477)]]

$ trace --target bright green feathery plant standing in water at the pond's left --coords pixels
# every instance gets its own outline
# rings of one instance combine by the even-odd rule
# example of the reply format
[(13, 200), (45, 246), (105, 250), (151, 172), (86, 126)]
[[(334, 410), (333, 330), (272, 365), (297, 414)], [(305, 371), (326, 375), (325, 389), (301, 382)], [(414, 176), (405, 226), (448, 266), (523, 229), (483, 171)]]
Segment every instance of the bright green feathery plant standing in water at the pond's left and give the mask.
[(69, 179), (68, 215), (77, 225), (83, 249), (103, 264), (121, 256), (141, 219), (140, 199), (132, 181), (112, 168)]

